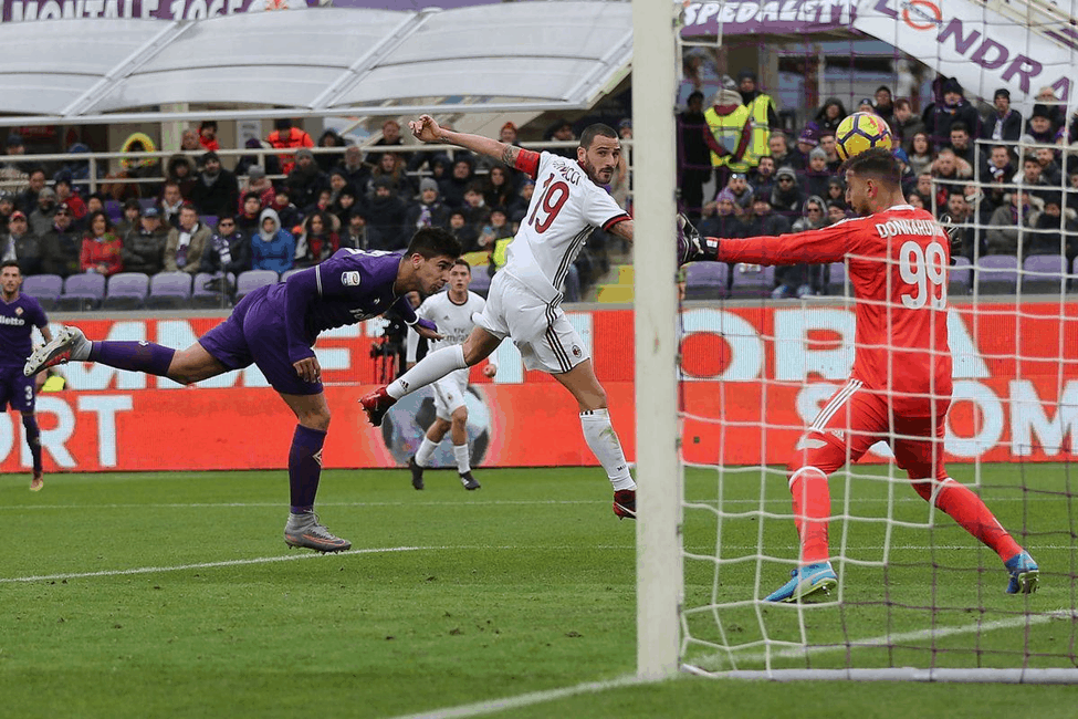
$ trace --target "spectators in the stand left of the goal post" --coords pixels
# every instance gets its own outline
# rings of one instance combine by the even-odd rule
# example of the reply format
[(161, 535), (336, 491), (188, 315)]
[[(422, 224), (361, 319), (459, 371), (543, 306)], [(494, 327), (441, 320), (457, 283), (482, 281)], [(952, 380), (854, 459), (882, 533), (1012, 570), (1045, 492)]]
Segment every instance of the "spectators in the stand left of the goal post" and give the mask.
[[(393, 119), (366, 150), (333, 131), (316, 144), (290, 121), (276, 121), (264, 140), (247, 147), (282, 152), (241, 156), (234, 170), (223, 167), (216, 129), (208, 122), (185, 131), (180, 150), (164, 161), (125, 159), (121, 173), (98, 178), (101, 190), (85, 196), (84, 160), (49, 171), (24, 153), (18, 134), (9, 135), (0, 161), (8, 188), (0, 191), (2, 259), (18, 261), (27, 277), (181, 271), (209, 273), (220, 286), (248, 270), (311, 267), (341, 248), (402, 250), (417, 229), (441, 227), (489, 275), (504, 263), (534, 190), (522, 173), (468, 152), (380, 150), (404, 146)], [(505, 123), (500, 139), (517, 144), (516, 133)], [(573, 125), (558, 121), (547, 138), (575, 139)], [(123, 150), (155, 147), (135, 133)], [(582, 282), (606, 271), (606, 242), (596, 230), (566, 282), (566, 300), (578, 300)]]

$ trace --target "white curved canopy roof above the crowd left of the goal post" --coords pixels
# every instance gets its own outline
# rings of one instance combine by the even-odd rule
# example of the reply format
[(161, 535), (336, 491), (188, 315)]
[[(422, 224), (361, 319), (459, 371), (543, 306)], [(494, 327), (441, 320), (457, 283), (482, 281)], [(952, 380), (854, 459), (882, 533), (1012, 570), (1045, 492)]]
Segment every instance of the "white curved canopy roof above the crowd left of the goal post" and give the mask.
[(0, 24), (0, 46), (7, 126), (542, 112), (587, 108), (625, 76), (632, 15), (567, 1), (49, 20)]

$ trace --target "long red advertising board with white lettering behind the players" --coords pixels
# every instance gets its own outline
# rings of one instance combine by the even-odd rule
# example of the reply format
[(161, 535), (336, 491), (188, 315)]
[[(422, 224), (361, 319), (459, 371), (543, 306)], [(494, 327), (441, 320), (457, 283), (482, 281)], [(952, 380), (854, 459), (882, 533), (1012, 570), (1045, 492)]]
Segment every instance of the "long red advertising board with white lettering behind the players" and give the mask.
[[(635, 457), (632, 313), (571, 312), (609, 395), (615, 428)], [(75, 322), (93, 338), (184, 347), (219, 320)], [(842, 305), (695, 308), (681, 317), (683, 451), (697, 463), (784, 463), (803, 428), (852, 364), (855, 319)], [(1066, 460), (1078, 455), (1078, 303), (952, 308), (954, 402), (950, 461)], [(327, 468), (393, 467), (433, 420), (426, 390), (369, 427), (358, 398), (375, 383), (383, 324), (326, 333), (317, 353), (333, 425)], [(374, 354), (379, 354), (375, 352)], [(493, 379), (472, 371), (467, 398), (473, 465), (584, 466), (575, 403), (553, 379), (526, 372), (512, 343)], [(167, 379), (74, 363), (66, 389), (38, 396), (46, 471), (284, 468), (295, 426), (257, 368), (180, 387)], [(436, 461), (450, 465), (449, 442)], [(887, 461), (886, 446), (866, 458)], [(0, 471), (27, 471), (18, 415), (0, 415)]]

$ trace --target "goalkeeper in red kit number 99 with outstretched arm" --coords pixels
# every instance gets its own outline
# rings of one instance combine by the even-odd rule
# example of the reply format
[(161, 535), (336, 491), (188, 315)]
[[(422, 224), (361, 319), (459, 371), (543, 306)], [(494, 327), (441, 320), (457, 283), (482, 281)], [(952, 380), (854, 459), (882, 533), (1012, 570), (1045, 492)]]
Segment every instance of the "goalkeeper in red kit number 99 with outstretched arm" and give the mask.
[(818, 598), (838, 584), (828, 561), (827, 477), (887, 441), (913, 489), (992, 548), (1009, 574), (1007, 593), (1036, 591), (1033, 558), (981, 498), (948, 477), (943, 431), (951, 404), (946, 289), (950, 239), (932, 216), (907, 205), (890, 150), (844, 165), (858, 218), (830, 227), (746, 239), (700, 238), (684, 223), (679, 259), (753, 264), (848, 263), (856, 298), (854, 369), (816, 416), (786, 466), (800, 555), (767, 602)]

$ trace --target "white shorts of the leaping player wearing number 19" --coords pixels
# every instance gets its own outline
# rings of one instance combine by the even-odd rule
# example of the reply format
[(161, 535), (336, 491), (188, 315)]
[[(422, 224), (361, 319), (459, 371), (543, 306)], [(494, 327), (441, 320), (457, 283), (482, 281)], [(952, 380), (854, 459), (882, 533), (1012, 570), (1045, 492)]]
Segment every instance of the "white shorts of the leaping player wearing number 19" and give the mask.
[(561, 305), (505, 272), (491, 280), (486, 308), (475, 319), (494, 336), (512, 338), (528, 369), (563, 374), (590, 357)]

